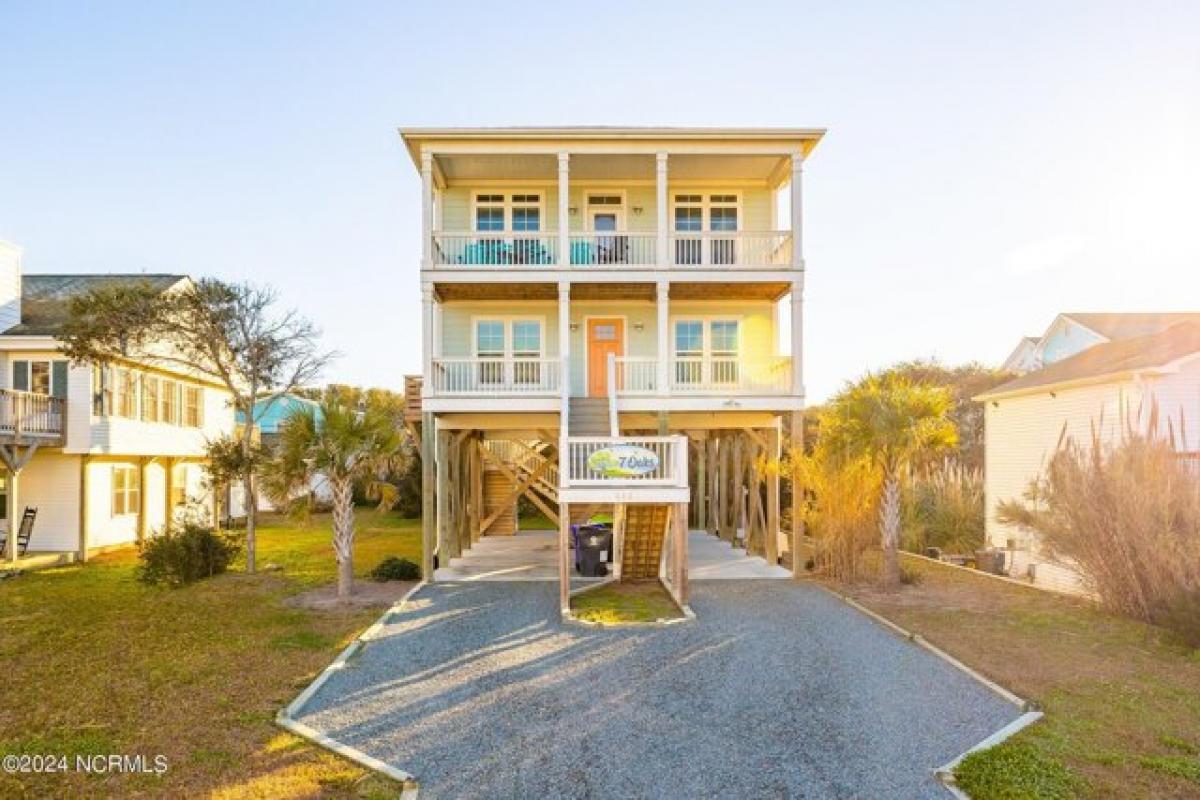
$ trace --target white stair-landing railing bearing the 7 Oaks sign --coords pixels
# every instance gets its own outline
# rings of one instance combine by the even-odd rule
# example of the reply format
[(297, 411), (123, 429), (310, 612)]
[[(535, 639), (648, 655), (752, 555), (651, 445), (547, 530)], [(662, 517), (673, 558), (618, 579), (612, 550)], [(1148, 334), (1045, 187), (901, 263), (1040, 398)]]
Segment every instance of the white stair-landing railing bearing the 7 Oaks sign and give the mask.
[[(636, 449), (636, 450), (634, 450)], [(611, 458), (593, 459), (598, 451), (610, 451)], [(649, 458), (648, 453), (653, 453)], [(618, 475), (605, 470), (600, 462), (620, 465), (622, 458), (640, 458), (631, 465), (638, 474)], [(613, 462), (612, 459), (617, 459)], [(653, 464), (653, 467), (652, 467)], [(686, 437), (569, 437), (563, 486), (688, 486)]]

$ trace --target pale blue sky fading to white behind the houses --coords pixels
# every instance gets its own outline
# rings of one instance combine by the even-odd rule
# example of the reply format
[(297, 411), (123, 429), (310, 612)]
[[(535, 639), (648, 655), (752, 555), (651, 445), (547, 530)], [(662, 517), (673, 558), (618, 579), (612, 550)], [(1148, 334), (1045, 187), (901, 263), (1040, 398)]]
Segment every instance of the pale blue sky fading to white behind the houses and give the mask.
[(0, 1), (0, 239), (30, 272), (277, 287), (420, 368), (404, 125), (826, 126), (810, 397), (1200, 297), (1200, 4)]

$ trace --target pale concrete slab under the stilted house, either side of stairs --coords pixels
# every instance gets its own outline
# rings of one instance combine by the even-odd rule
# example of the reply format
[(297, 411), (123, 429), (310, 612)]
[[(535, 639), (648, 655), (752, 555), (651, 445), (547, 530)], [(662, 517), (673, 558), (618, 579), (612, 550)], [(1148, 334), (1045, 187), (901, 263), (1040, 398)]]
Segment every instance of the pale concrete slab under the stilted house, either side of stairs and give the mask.
[[(710, 536), (703, 530), (688, 535), (688, 572), (691, 578), (790, 578), (781, 566)], [(515, 536), (485, 536), (461, 558), (433, 573), (434, 581), (558, 581), (558, 534), (521, 531)], [(574, 576), (576, 581), (587, 581)]]

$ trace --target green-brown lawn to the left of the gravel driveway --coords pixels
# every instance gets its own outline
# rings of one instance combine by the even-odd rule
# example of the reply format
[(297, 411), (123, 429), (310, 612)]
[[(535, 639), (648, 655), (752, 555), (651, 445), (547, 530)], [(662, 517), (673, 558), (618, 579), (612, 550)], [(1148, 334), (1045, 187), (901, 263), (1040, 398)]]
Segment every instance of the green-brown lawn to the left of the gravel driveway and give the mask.
[[(419, 561), (420, 524), (359, 515), (355, 572)], [(162, 775), (7, 775), (0, 796), (396, 796), (395, 784), (272, 723), (378, 610), (310, 612), (334, 579), (328, 517), (268, 519), (260, 570), (182, 589), (133, 577), (122, 551), (0, 583), (0, 753), (164, 754)]]

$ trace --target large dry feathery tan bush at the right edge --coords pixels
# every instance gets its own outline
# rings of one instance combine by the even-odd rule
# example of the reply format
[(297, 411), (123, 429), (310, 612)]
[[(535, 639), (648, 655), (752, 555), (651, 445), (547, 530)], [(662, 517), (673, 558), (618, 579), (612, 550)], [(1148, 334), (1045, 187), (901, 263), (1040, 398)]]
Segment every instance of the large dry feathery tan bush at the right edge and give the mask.
[(1109, 609), (1200, 646), (1200, 477), (1158, 427), (1152, 411), (1148, 434), (1127, 421), (1112, 445), (1096, 428), (1087, 446), (1064, 438), (998, 518), (1038, 533)]

